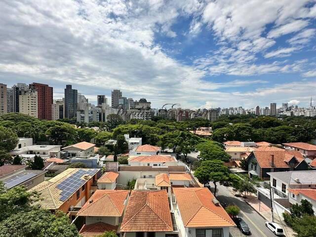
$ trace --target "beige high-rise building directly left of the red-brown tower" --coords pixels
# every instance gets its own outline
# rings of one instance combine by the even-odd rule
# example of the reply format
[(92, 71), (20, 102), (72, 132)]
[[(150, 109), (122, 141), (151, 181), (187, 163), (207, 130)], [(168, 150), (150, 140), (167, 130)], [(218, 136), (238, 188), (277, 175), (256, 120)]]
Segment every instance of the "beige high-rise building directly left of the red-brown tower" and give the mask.
[(19, 94), (19, 113), (38, 118), (38, 92), (22, 90)]

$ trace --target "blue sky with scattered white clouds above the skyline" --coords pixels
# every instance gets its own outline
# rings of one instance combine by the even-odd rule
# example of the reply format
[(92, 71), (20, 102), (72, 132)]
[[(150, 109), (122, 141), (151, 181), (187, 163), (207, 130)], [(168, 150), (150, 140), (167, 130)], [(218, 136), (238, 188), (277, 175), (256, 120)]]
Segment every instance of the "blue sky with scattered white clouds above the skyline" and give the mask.
[(316, 0), (1, 0), (0, 82), (153, 108), (316, 104)]

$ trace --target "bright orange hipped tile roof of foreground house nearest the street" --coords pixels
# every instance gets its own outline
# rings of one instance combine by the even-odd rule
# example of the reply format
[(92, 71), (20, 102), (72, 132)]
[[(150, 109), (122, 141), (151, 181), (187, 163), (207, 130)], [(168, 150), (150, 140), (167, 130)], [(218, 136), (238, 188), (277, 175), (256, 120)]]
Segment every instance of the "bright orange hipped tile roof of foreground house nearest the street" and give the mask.
[(224, 208), (212, 202), (207, 188), (174, 188), (173, 193), (185, 227), (235, 226)]

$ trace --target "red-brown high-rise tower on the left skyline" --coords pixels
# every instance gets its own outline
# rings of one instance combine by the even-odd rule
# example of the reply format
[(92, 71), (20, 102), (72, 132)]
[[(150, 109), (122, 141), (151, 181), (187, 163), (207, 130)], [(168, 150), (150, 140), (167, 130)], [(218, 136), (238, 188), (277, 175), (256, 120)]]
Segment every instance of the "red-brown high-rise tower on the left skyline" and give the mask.
[(38, 92), (38, 118), (51, 120), (53, 87), (47, 84), (33, 82), (30, 84), (30, 88)]

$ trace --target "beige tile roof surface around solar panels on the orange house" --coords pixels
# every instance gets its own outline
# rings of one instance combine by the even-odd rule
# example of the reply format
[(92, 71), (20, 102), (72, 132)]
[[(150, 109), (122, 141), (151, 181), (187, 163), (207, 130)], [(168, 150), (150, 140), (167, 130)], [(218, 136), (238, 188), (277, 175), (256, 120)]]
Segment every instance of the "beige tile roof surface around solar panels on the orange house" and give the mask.
[[(80, 169), (91, 170), (83, 168), (69, 168), (63, 171), (62, 173), (58, 174), (57, 176), (44, 182), (41, 182), (34, 188), (30, 189), (29, 192), (37, 191), (40, 194), (40, 199), (35, 204), (39, 204), (42, 208), (49, 210), (58, 209), (67, 200), (62, 201), (59, 199), (63, 191), (58, 189), (56, 186)], [(100, 169), (97, 170), (99, 171)], [(80, 177), (80, 179), (83, 179), (86, 182), (88, 181), (84, 179), (83, 176)]]

